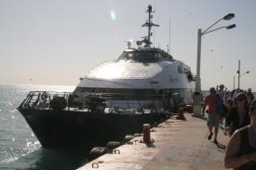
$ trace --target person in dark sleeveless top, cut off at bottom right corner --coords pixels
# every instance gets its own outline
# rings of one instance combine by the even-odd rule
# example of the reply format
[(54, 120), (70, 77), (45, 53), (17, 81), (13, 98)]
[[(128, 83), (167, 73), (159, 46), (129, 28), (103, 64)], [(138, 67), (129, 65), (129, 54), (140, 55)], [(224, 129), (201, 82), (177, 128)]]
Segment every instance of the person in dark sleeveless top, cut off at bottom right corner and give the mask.
[(236, 130), (227, 144), (224, 158), (226, 168), (256, 169), (256, 99), (249, 106), (249, 117), (250, 124)]

